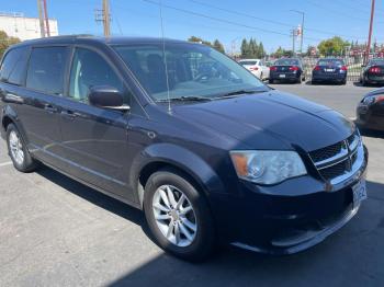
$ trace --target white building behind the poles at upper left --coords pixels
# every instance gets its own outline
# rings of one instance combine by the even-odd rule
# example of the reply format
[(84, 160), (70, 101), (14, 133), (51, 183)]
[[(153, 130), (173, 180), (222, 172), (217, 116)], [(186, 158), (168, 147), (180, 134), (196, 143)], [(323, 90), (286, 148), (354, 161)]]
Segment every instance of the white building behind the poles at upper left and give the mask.
[[(18, 12), (0, 12), (0, 30), (21, 41), (41, 37), (38, 18), (27, 18)], [(49, 32), (50, 36), (58, 35), (57, 20), (49, 19)]]

